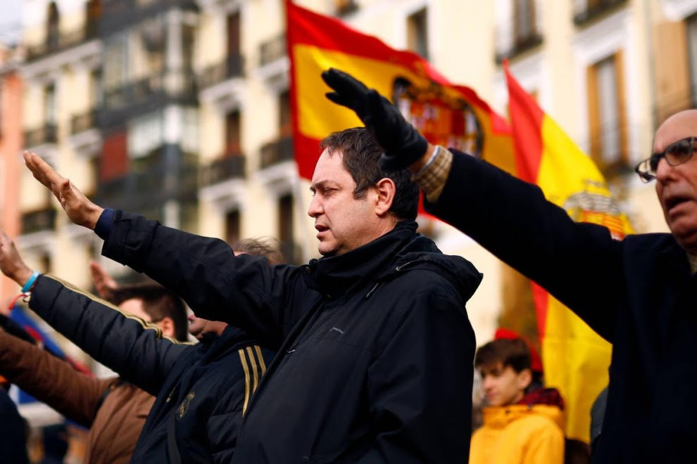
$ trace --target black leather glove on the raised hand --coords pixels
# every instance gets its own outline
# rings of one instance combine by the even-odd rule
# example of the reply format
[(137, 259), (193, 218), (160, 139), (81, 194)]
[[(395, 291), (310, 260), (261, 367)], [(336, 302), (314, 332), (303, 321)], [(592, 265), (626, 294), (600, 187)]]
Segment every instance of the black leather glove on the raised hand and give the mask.
[(327, 98), (356, 112), (382, 146), (380, 167), (385, 171), (405, 169), (426, 153), (428, 142), (409, 124), (395, 105), (346, 72), (333, 67), (322, 79), (334, 89)]

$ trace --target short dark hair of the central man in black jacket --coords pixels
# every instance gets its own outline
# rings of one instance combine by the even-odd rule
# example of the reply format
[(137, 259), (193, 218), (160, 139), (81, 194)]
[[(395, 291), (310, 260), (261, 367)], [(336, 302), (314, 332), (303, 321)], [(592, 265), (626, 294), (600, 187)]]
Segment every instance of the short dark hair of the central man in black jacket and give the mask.
[(419, 207), (419, 188), (411, 181), (411, 172), (409, 169), (392, 172), (380, 169), (379, 161), (382, 148), (368, 129), (353, 127), (353, 129), (333, 132), (322, 140), (320, 147), (326, 148), (329, 155), (337, 150), (343, 153), (344, 168), (356, 182), (353, 198), (358, 200), (365, 197), (368, 187), (375, 186), (380, 179), (387, 177), (392, 179), (396, 189), (389, 211), (397, 219), (416, 219)]

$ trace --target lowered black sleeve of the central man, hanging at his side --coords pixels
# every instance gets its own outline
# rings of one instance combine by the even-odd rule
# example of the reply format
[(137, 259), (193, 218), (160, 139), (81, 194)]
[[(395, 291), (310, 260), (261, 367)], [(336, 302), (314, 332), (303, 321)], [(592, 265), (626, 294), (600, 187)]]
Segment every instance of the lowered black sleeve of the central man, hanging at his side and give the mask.
[(465, 303), (446, 292), (410, 300), (412, 307), (368, 371), (376, 437), (358, 462), (466, 463), (475, 334)]

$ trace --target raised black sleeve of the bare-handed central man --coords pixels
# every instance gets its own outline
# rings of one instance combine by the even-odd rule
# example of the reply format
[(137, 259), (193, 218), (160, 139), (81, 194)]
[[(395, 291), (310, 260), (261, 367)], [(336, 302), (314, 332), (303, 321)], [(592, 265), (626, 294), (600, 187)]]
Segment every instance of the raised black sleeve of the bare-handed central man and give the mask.
[(180, 295), (196, 316), (229, 322), (275, 347), (296, 321), (287, 301), (302, 291), (294, 266), (235, 257), (217, 238), (196, 236), (116, 211), (102, 254)]

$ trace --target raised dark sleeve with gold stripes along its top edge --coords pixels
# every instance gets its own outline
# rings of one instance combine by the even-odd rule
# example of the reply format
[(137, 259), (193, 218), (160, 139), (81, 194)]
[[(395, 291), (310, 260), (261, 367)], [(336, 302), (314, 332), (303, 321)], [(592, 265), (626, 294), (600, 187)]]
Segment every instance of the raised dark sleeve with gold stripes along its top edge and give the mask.
[(29, 307), (84, 352), (153, 396), (189, 346), (52, 276), (39, 276)]

